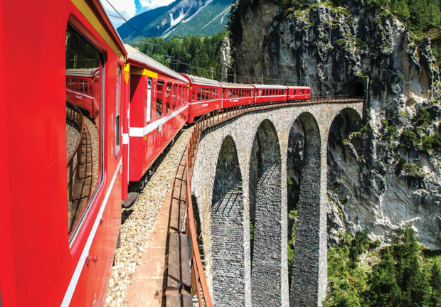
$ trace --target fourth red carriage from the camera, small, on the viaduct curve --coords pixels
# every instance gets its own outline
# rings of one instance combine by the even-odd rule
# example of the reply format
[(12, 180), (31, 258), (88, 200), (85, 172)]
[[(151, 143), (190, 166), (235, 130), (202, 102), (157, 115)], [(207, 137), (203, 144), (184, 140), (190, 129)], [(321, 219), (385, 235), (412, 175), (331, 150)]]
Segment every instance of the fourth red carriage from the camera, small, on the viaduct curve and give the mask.
[(255, 102), (255, 87), (251, 85), (222, 83), (223, 108)]

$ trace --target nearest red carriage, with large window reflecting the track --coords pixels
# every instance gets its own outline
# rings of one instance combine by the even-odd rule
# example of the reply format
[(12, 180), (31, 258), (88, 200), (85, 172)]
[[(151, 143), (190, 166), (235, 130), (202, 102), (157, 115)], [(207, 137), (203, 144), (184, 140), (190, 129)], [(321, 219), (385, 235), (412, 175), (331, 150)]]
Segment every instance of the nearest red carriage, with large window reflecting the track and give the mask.
[[(104, 306), (121, 218), (126, 51), (99, 0), (2, 0), (0, 19), (0, 305)], [(90, 117), (66, 105), (72, 63), (100, 68)], [(25, 71), (32, 81), (17, 82)], [(72, 154), (84, 168), (68, 168)], [(85, 193), (70, 198), (70, 177)]]

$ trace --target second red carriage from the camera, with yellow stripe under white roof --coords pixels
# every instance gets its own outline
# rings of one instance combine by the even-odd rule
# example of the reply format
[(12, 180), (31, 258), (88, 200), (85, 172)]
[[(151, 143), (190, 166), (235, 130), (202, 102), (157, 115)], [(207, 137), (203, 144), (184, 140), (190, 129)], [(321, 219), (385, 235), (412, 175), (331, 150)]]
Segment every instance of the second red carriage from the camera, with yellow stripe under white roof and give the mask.
[(186, 124), (185, 77), (125, 45), (130, 65), (129, 181), (139, 181)]

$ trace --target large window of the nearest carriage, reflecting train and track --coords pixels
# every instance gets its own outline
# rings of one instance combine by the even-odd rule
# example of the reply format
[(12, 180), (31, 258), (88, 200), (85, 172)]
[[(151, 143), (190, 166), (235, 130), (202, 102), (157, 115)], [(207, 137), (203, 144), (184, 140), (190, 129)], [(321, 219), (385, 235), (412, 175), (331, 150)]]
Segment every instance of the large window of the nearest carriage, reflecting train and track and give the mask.
[[(66, 85), (66, 160), (67, 168), (67, 209), (69, 247), (72, 247), (87, 217), (87, 212), (94, 204), (97, 190), (102, 185), (104, 163), (104, 115), (100, 110), (104, 106), (102, 99), (104, 82), (104, 57), (83, 34), (68, 24), (65, 36), (66, 75), (73, 68), (84, 69), (92, 80), (92, 103), (84, 104), (83, 96), (87, 82), (78, 78), (72, 85)], [(85, 79), (86, 77), (83, 77)], [(83, 85), (82, 85), (83, 84)], [(78, 90), (72, 93), (70, 89)], [(112, 148), (113, 154), (114, 148)], [(61, 217), (60, 217), (61, 218)]]

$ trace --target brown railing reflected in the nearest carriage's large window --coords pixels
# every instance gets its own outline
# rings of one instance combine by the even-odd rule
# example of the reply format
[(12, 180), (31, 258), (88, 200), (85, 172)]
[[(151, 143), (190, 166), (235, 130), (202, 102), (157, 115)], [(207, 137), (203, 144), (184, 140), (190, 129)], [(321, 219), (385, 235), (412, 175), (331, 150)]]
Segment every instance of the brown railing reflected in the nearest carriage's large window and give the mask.
[[(68, 197), (69, 201), (73, 198), (73, 174), (75, 173), (75, 178), (79, 176), (80, 164), (81, 164), (81, 151), (83, 149), (83, 114), (81, 114), (80, 109), (78, 109), (75, 104), (66, 102), (66, 121), (70, 120), (76, 126), (78, 131), (80, 131), (80, 138), (78, 139), (78, 144), (75, 146), (75, 150), (70, 155), (68, 160), (69, 178), (68, 178)], [(77, 165), (75, 166), (75, 172), (73, 167), (74, 157), (77, 156)]]

